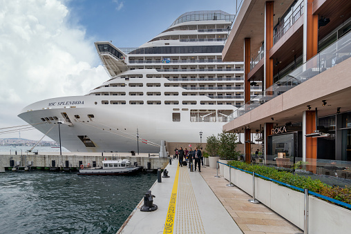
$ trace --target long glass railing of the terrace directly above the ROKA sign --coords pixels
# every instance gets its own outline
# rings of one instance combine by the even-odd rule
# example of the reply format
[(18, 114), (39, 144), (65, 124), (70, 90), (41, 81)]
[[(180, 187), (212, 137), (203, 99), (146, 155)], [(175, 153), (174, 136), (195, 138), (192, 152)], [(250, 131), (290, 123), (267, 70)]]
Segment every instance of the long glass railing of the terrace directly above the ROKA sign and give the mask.
[(341, 61), (351, 57), (351, 32), (332, 43), (312, 59), (305, 62), (288, 75), (279, 79), (272, 86), (260, 92), (259, 95), (248, 101), (245, 105), (240, 106), (238, 110), (230, 115), (230, 120), (236, 119), (257, 106), (274, 99), (287, 90), (295, 88), (299, 84), (319, 75), (321, 72), (332, 68)]

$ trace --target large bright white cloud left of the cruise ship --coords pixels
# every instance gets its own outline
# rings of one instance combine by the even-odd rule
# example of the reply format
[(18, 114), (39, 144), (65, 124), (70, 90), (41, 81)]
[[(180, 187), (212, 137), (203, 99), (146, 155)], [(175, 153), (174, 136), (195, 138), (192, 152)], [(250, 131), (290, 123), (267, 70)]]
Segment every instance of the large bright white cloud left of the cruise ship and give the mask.
[(23, 124), (17, 115), (28, 104), (85, 95), (108, 79), (101, 65), (92, 65), (99, 63), (93, 41), (67, 23), (59, 0), (0, 0), (0, 6), (0, 128)]

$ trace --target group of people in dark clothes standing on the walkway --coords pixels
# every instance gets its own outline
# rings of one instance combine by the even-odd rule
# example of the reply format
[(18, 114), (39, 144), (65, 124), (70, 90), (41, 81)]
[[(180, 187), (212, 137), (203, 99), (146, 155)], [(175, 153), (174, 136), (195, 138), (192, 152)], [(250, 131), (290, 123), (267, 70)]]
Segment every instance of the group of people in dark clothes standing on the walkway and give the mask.
[(204, 166), (204, 162), (202, 159), (201, 150), (198, 149), (198, 147), (195, 147), (195, 150), (192, 150), (192, 148), (189, 148), (189, 150), (185, 148), (185, 150), (183, 150), (183, 148), (180, 147), (179, 150), (176, 148), (174, 151), (174, 156), (178, 158), (179, 166), (183, 166), (183, 161), (185, 159), (189, 164), (189, 168), (192, 168), (192, 166), (194, 166), (194, 170), (196, 170), (196, 166), (198, 166), (198, 171), (201, 172), (201, 164)]

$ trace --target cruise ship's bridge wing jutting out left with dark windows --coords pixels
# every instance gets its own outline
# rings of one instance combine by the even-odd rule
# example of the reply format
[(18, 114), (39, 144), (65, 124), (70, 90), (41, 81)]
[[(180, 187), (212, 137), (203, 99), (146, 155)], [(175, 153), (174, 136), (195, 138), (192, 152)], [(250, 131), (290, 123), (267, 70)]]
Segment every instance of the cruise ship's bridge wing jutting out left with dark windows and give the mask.
[(112, 43), (107, 41), (95, 42), (95, 48), (107, 74), (110, 77), (115, 77), (119, 73), (127, 70), (125, 62), (127, 57), (126, 54), (118, 48), (115, 48)]

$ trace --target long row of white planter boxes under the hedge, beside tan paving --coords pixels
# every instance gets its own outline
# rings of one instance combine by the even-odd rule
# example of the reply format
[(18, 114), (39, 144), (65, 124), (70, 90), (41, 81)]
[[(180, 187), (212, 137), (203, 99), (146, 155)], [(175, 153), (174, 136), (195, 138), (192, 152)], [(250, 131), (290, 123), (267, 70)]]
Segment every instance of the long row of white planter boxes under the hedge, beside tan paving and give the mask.
[[(223, 165), (224, 166), (224, 165)], [(229, 166), (224, 166), (229, 181)], [(231, 168), (231, 183), (252, 195), (252, 175)], [(255, 197), (292, 224), (304, 228), (304, 194), (260, 177), (255, 178)], [(349, 233), (351, 211), (309, 195), (309, 233)]]

